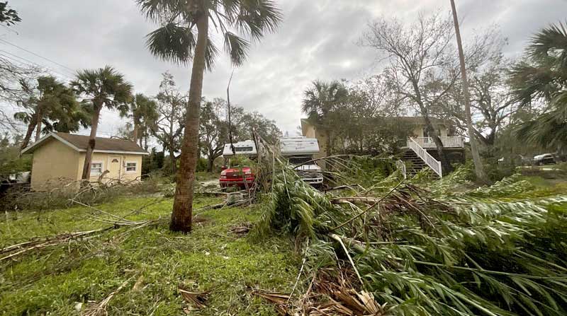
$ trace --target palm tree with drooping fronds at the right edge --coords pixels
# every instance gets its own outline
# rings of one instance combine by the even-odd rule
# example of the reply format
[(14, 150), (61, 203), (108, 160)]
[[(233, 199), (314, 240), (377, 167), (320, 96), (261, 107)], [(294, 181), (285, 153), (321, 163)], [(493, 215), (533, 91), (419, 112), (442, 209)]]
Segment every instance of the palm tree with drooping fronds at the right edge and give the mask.
[(527, 61), (512, 69), (515, 100), (543, 104), (539, 117), (521, 124), (517, 136), (544, 148), (567, 150), (567, 29), (550, 25), (532, 37)]

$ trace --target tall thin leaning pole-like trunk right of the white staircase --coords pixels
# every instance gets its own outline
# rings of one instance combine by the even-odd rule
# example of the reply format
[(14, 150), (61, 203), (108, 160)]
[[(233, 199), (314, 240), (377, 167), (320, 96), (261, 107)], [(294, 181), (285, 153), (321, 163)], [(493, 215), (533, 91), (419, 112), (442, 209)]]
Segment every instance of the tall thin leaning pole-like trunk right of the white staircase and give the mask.
[(453, 11), (453, 23), (455, 25), (456, 45), (459, 48), (459, 62), (461, 62), (461, 80), (463, 81), (463, 94), (465, 99), (465, 115), (466, 128), (468, 129), (468, 137), (471, 141), (471, 152), (473, 154), (474, 170), (476, 179), (483, 183), (489, 183), (488, 176), (484, 172), (481, 154), (478, 153), (478, 144), (473, 129), (473, 119), (471, 117), (471, 97), (468, 94), (468, 79), (466, 78), (465, 55), (463, 52), (463, 43), (461, 42), (461, 30), (459, 30), (459, 18), (456, 16), (455, 1), (451, 1), (451, 10)]

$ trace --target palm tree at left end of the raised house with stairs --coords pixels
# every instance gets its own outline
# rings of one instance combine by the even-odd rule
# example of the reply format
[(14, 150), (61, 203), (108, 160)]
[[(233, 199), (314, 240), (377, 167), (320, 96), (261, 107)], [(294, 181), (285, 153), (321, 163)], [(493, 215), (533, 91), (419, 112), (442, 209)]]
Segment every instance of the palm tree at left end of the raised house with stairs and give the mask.
[(303, 92), (301, 110), (308, 115), (310, 122), (327, 134), (327, 156), (332, 152), (333, 119), (337, 118), (333, 114), (347, 102), (348, 95), (349, 91), (339, 81), (326, 83), (316, 80)]

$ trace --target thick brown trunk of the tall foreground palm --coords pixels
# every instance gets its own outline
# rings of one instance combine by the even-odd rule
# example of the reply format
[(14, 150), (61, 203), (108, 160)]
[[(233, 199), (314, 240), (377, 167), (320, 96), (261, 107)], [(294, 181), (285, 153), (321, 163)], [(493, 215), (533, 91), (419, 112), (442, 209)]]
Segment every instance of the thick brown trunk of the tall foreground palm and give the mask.
[(170, 230), (183, 233), (191, 231), (193, 182), (195, 181), (198, 159), (199, 108), (201, 107), (201, 95), (203, 93), (203, 73), (205, 71), (205, 54), (208, 40), (208, 16), (206, 13), (203, 13), (203, 16), (198, 18), (197, 32), (184, 138), (181, 145), (179, 171), (176, 177), (177, 185), (175, 188), (172, 222), (169, 224)]

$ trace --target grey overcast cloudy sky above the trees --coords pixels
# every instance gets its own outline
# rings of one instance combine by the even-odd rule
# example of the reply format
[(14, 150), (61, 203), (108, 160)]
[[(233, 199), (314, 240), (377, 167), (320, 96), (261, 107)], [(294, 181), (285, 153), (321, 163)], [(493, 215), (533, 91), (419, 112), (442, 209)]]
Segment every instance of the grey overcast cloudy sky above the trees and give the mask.
[[(567, 0), (456, 0), (463, 37), (474, 29), (498, 24), (518, 57), (529, 36), (549, 23), (566, 21)], [(367, 23), (379, 16), (411, 21), (417, 13), (442, 8), (449, 0), (281, 0), (284, 19), (277, 33), (267, 35), (235, 70), (231, 101), (276, 120), (282, 131), (296, 132), (303, 90), (315, 79), (357, 80), (379, 70), (376, 54), (357, 46)], [(137, 93), (155, 95), (161, 74), (171, 71), (181, 90), (189, 89), (189, 67), (162, 62), (145, 48), (145, 35), (155, 25), (145, 20), (134, 0), (9, 0), (22, 22), (0, 28), (0, 54), (34, 62), (72, 77), (76, 69), (114, 66)], [(53, 63), (56, 62), (57, 64)], [(60, 66), (61, 64), (63, 66)], [(232, 68), (221, 55), (206, 74), (203, 95), (225, 98)], [(105, 111), (99, 136), (116, 134), (123, 125)]]

